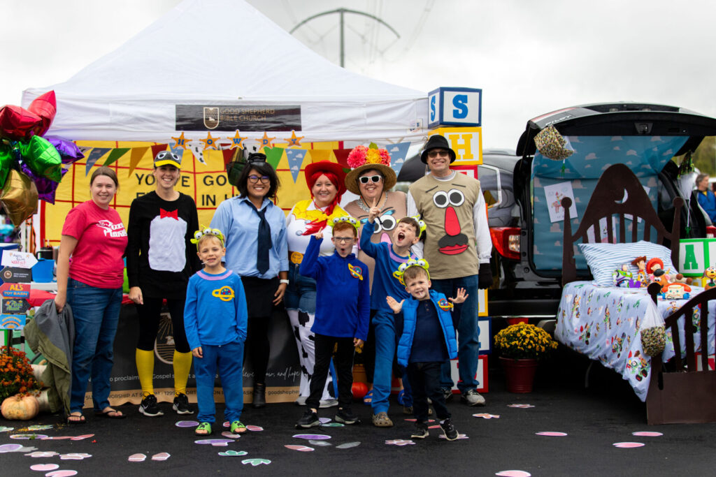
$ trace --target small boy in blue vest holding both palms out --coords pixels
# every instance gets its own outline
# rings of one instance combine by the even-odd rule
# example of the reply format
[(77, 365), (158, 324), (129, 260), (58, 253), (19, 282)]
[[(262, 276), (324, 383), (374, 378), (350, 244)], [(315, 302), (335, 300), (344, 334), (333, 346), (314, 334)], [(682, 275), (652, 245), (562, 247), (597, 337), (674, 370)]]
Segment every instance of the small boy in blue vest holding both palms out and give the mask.
[[(385, 299), (393, 313), (402, 313), (402, 335), (398, 343), (398, 364), (407, 368), (412, 388), (412, 405), (415, 413), (415, 431), (412, 438), (424, 439), (427, 431), (427, 400), (432, 400), (440, 428), (448, 441), (458, 438), (445, 405), (445, 395), (440, 386), (440, 367), (448, 359), (458, 355), (453, 317), (450, 312), (454, 303), (463, 303), (468, 295), (458, 288), (458, 296), (445, 298), (442, 293), (430, 290), (430, 274), (425, 260), (409, 260), (401, 265), (397, 274), (402, 275), (405, 290), (410, 298), (398, 302)], [(396, 317), (400, 322), (400, 316)]]

